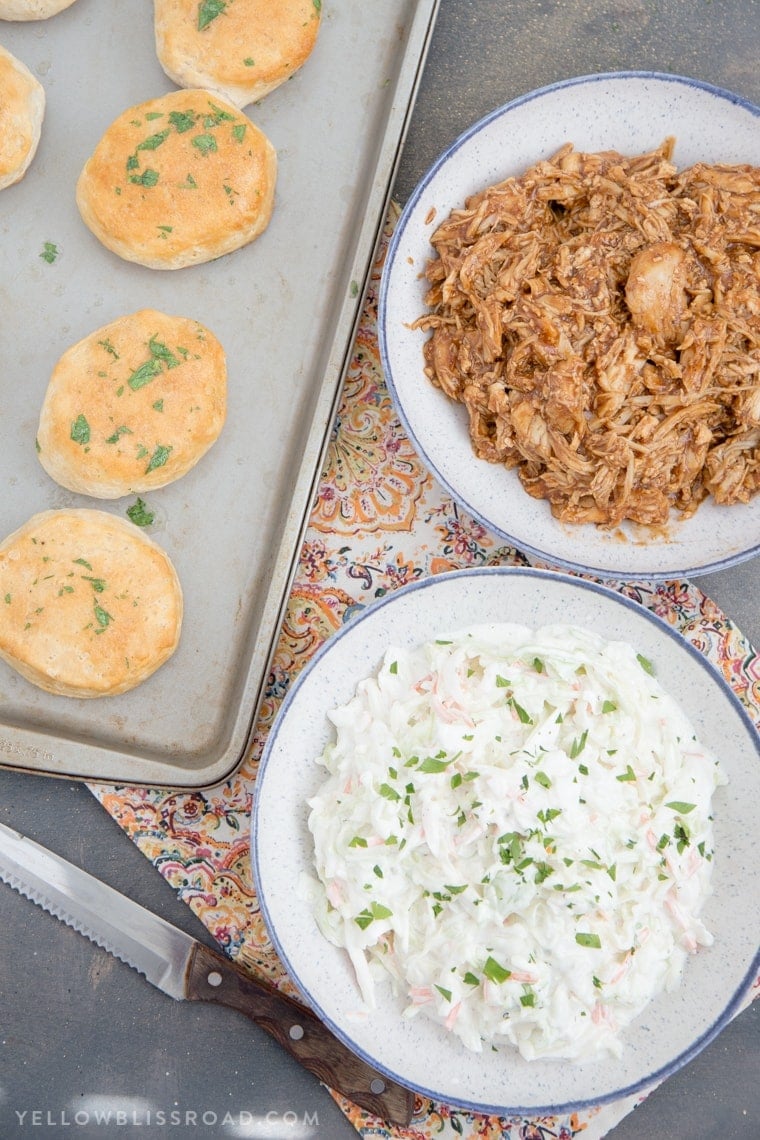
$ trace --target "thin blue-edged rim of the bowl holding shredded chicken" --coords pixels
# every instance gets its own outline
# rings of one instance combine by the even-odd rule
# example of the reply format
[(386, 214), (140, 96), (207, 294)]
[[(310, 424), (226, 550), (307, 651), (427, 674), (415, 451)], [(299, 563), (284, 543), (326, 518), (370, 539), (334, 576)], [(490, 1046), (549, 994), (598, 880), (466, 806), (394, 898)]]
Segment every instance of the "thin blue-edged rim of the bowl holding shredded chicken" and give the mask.
[(608, 71), (608, 72), (594, 72), (588, 75), (575, 75), (571, 79), (558, 80), (555, 83), (547, 83), (544, 87), (536, 88), (529, 91), (526, 95), (517, 96), (515, 99), (510, 99), (508, 103), (496, 107), (493, 111), (488, 112), (481, 119), (476, 120), (468, 128), (466, 128), (457, 138), (438, 156), (435, 162), (428, 168), (428, 170), (423, 174), (420, 180), (417, 182), (415, 189), (409, 196), (399, 220), (395, 225), (391, 239), (389, 242), (387, 252), (385, 255), (385, 269), (383, 271), (378, 299), (377, 299), (377, 333), (378, 333), (378, 347), (381, 353), (381, 363), (383, 366), (383, 373), (385, 377), (385, 383), (393, 397), (393, 405), (399, 415), (399, 418), (403, 425), (404, 431), (409, 435), (409, 439), (415, 446), (417, 454), (424, 461), (428, 470), (435, 475), (435, 479), (444, 488), (444, 490), (451, 496), (455, 502), (459, 503), (465, 507), (466, 511), (473, 516), (473, 519), (479, 522), (485, 530), (490, 530), (492, 534), (497, 535), (499, 538), (509, 543), (510, 545), (517, 547), (517, 549), (524, 553), (538, 557), (541, 560), (548, 560), (551, 564), (561, 567), (566, 570), (581, 570), (588, 571), (589, 573), (598, 575), (607, 579), (635, 579), (635, 580), (647, 580), (647, 581), (663, 581), (665, 579), (677, 578), (677, 577), (698, 577), (701, 575), (714, 573), (720, 570), (727, 570), (729, 567), (738, 565), (741, 562), (745, 562), (749, 559), (754, 557), (760, 554), (760, 542), (747, 547), (746, 549), (739, 551), (737, 553), (726, 555), (725, 557), (716, 557), (710, 562), (697, 563), (694, 565), (686, 565), (684, 568), (671, 568), (667, 570), (641, 570), (636, 571), (632, 575), (624, 573), (623, 571), (612, 570), (608, 567), (595, 567), (586, 562), (573, 561), (567, 556), (561, 556), (550, 551), (542, 549), (539, 546), (534, 546), (530, 543), (530, 539), (525, 540), (523, 538), (515, 538), (509, 531), (499, 527), (491, 519), (488, 519), (482, 511), (473, 506), (469, 500), (458, 491), (450, 481), (441, 474), (438, 465), (431, 459), (427, 454), (427, 449), (423, 447), (417, 434), (407, 418), (406, 410), (403, 408), (402, 401), (399, 399), (398, 388), (393, 378), (393, 369), (391, 367), (390, 353), (387, 351), (386, 341), (386, 323), (384, 319), (384, 312), (387, 307), (387, 290), (391, 277), (391, 267), (395, 260), (398, 253), (398, 246), (400, 245), (409, 218), (415, 209), (420, 196), (426, 190), (428, 184), (435, 177), (438, 171), (442, 165), (444, 165), (452, 154), (471, 139), (474, 135), (479, 133), (484, 127), (487, 127), (495, 119), (499, 119), (501, 115), (506, 114), (508, 111), (513, 111), (515, 107), (520, 107), (523, 104), (531, 103), (541, 96), (545, 96), (551, 91), (564, 90), (571, 87), (579, 87), (588, 83), (604, 82), (605, 80), (656, 80), (657, 82), (665, 83), (677, 83), (684, 87), (696, 88), (702, 91), (706, 91), (710, 95), (714, 95), (718, 98), (725, 99), (728, 103), (733, 103), (736, 106), (749, 111), (750, 114), (755, 117), (760, 117), (760, 106), (752, 103), (750, 99), (745, 99), (743, 96), (737, 95), (735, 91), (730, 91), (727, 88), (718, 87), (714, 83), (709, 83), (705, 80), (690, 79), (686, 75), (672, 74), (669, 72), (659, 71), (647, 71), (647, 70), (631, 70), (631, 71)]

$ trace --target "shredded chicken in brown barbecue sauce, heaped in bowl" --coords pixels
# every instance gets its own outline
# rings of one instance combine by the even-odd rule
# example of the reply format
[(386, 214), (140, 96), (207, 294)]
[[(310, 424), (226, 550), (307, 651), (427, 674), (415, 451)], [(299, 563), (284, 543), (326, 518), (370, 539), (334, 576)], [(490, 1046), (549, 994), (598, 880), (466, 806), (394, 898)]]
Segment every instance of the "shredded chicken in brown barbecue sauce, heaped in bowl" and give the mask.
[(435, 230), (425, 372), (565, 522), (760, 489), (760, 169), (569, 144)]

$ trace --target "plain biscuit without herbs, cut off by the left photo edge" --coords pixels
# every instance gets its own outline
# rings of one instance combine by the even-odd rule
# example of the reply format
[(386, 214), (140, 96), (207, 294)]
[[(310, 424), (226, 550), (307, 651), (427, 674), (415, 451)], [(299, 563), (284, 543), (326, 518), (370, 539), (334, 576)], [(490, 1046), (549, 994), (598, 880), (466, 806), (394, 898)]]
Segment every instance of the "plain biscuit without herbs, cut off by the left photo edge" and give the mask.
[(28, 67), (0, 47), (0, 190), (21, 181), (36, 153), (44, 88)]

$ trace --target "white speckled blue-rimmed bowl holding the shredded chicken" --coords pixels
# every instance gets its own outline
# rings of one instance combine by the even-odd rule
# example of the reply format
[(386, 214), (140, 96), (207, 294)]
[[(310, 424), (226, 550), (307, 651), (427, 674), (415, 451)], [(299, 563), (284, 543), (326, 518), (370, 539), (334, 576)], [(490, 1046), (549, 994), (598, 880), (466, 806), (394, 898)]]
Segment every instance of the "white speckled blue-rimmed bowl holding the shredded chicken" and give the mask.
[(760, 108), (695, 80), (623, 72), (567, 80), (492, 112), (465, 131), (423, 178), (387, 251), (378, 308), (385, 378), (419, 456), (439, 482), (497, 535), (548, 562), (604, 577), (659, 580), (720, 570), (760, 552), (760, 496), (744, 506), (703, 503), (668, 534), (605, 532), (563, 524), (531, 498), (515, 471), (477, 461), (467, 416), (423, 373), (427, 334), (409, 328), (426, 311), (420, 277), (430, 237), (465, 198), (520, 174), (564, 142), (579, 150), (643, 153), (676, 137), (675, 161), (760, 164)]

